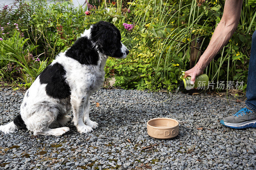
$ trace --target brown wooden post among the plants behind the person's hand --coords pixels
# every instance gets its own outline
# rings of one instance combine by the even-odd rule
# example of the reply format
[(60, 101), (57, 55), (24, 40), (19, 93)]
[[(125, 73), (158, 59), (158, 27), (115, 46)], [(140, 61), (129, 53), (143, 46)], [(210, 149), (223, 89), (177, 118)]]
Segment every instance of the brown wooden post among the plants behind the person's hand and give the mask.
[[(202, 38), (201, 37), (198, 37), (197, 39), (197, 35), (194, 34), (192, 36), (192, 42), (191, 42), (191, 45), (193, 47), (191, 47), (190, 49), (190, 59), (189, 59), (189, 66), (190, 66), (190, 69), (192, 67), (195, 66), (195, 63), (199, 60), (200, 56), (201, 56), (201, 51), (199, 51), (198, 49), (201, 47), (201, 44), (202, 44)], [(196, 49), (196, 48), (198, 49)]]

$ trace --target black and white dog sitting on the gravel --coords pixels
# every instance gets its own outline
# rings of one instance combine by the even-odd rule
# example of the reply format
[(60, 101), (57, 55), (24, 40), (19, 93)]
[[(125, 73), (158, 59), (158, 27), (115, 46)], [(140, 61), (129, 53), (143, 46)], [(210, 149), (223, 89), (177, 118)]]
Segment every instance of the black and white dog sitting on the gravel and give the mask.
[[(98, 123), (89, 118), (89, 99), (103, 85), (106, 60), (128, 54), (116, 26), (105, 21), (92, 25), (36, 78), (25, 93), (20, 115), (0, 126), (0, 131), (6, 134), (27, 128), (34, 135), (59, 136), (69, 130), (63, 126), (72, 108), (77, 131), (92, 132)], [(52, 129), (56, 126), (61, 127)]]

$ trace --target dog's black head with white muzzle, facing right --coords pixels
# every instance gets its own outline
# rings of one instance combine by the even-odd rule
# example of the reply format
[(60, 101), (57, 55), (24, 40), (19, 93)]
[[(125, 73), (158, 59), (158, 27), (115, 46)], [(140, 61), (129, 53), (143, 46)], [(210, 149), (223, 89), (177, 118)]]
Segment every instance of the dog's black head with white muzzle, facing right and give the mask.
[(90, 39), (100, 53), (114, 58), (125, 58), (129, 50), (121, 42), (120, 31), (109, 22), (100, 21), (90, 28)]

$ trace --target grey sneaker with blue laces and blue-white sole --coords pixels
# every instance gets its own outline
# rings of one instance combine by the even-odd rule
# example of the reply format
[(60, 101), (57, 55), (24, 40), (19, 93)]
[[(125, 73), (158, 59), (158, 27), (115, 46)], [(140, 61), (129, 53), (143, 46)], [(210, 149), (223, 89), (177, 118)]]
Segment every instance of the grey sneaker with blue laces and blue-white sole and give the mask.
[(256, 113), (247, 107), (241, 108), (236, 114), (221, 119), (220, 123), (234, 129), (256, 128)]

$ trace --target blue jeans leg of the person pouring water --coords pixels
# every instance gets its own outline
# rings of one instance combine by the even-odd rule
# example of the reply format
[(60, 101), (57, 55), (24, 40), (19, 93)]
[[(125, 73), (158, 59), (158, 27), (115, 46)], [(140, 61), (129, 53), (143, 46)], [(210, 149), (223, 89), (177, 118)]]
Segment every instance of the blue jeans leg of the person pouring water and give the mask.
[(252, 34), (252, 49), (247, 77), (246, 97), (246, 106), (256, 111), (256, 31)]

